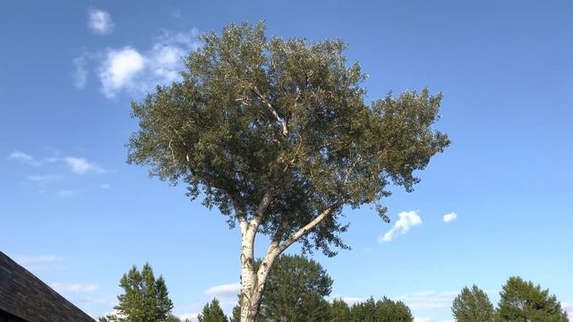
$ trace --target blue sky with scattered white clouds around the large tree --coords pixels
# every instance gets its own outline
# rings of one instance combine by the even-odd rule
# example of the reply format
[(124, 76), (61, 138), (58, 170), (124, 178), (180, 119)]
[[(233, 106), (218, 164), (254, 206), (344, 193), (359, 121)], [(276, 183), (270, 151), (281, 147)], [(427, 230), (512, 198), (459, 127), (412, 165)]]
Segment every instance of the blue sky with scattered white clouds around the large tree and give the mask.
[(572, 16), (569, 1), (4, 1), (0, 250), (92, 316), (146, 261), (175, 314), (212, 296), (232, 308), (238, 231), (184, 186), (126, 165), (124, 144), (130, 101), (173, 80), (197, 35), (264, 19), (269, 35), (343, 38), (370, 98), (445, 95), (437, 127), (453, 143), (414, 192), (385, 201), (392, 223), (348, 210), (353, 250), (315, 254), (333, 297), (387, 295), (443, 322), (463, 286), (496, 302), (520, 275), (573, 311)]

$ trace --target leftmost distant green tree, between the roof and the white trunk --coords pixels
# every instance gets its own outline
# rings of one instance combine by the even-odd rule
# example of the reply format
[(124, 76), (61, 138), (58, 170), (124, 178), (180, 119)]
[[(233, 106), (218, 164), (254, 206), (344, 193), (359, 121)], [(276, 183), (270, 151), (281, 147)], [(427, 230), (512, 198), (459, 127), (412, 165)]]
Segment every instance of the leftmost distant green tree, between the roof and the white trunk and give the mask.
[[(115, 322), (164, 322), (171, 321), (173, 303), (169, 300), (167, 286), (162, 276), (153, 275), (149, 264), (141, 272), (133, 266), (119, 282), (124, 294), (117, 296), (119, 304), (114, 307), (117, 315), (100, 318), (100, 321)], [(178, 320), (178, 319), (177, 319)]]

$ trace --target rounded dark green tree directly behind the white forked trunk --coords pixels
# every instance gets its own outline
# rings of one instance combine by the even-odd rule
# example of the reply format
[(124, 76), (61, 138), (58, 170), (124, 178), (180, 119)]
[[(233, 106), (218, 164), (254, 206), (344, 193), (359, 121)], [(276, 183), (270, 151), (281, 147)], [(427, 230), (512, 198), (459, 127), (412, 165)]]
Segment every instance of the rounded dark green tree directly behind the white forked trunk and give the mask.
[(327, 321), (332, 279), (321, 264), (299, 255), (277, 258), (267, 279), (259, 321)]

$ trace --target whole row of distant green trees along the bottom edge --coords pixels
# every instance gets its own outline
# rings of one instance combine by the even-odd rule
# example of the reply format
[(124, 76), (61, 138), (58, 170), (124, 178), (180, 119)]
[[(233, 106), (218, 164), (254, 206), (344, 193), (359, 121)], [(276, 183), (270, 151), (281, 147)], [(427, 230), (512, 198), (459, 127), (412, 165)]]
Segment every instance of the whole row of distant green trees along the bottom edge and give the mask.
[[(258, 265), (258, 264), (257, 264)], [(349, 306), (342, 299), (328, 301), (333, 281), (321, 265), (303, 256), (283, 255), (277, 259), (261, 303), (259, 322), (413, 322), (402, 301), (387, 297)], [(133, 267), (120, 280), (124, 294), (115, 306), (117, 314), (100, 322), (179, 322), (171, 314), (173, 303), (167, 296), (163, 277), (155, 279), (149, 264), (140, 272)], [(237, 299), (238, 302), (239, 299)], [(458, 322), (569, 322), (567, 312), (549, 290), (512, 276), (503, 285), (500, 302), (493, 307), (486, 292), (473, 285), (465, 287), (452, 302), (452, 315)], [(199, 322), (240, 322), (237, 304), (231, 317), (213, 299), (198, 315)], [(188, 320), (185, 320), (187, 322)]]

